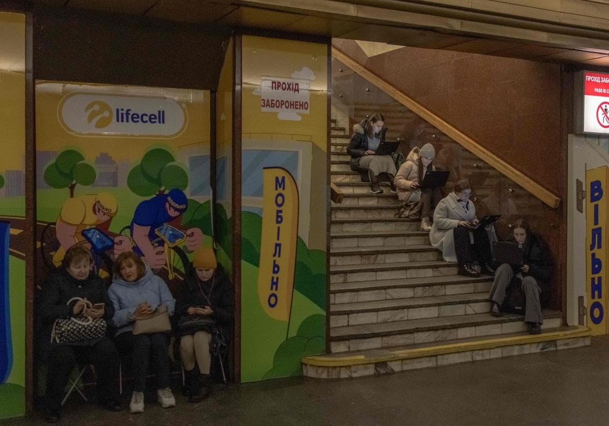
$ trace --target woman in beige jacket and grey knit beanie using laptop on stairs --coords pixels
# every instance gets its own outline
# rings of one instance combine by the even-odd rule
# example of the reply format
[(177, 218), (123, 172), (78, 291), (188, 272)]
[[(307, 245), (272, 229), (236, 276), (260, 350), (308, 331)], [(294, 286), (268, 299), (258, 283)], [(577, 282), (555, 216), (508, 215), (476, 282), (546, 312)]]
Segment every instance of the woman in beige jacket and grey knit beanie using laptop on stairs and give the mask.
[(428, 170), (435, 170), (432, 161), (435, 149), (432, 144), (414, 147), (395, 175), (395, 184), (400, 199), (400, 217), (421, 219), (421, 231), (431, 231), (432, 215), (440, 202), (440, 188), (420, 188)]

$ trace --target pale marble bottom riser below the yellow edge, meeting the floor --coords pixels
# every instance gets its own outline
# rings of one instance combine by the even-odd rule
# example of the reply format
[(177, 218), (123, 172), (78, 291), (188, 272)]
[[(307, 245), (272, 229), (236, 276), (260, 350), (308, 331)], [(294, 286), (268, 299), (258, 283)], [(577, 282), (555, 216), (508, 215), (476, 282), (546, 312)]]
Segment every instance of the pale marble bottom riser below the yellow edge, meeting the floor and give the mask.
[[(574, 347), (590, 346), (590, 336), (547, 340), (538, 343), (515, 344), (453, 354), (432, 355), (431, 357), (410, 358), (385, 361), (375, 364), (351, 365), (345, 367), (321, 367), (303, 365), (303, 375), (315, 379), (349, 379), (372, 375), (391, 374), (420, 368), (440, 367), (458, 363), (488, 360), (491, 358), (512, 357), (515, 355), (536, 354), (538, 352), (560, 351)], [(526, 362), (526, 360), (523, 360)]]

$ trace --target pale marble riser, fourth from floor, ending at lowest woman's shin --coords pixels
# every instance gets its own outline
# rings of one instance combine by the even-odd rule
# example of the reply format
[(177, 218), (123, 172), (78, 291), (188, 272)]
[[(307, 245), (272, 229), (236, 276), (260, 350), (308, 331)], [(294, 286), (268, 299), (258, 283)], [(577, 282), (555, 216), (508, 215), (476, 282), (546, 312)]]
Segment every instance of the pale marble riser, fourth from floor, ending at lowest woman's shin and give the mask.
[[(330, 285), (330, 288), (332, 286)], [(393, 287), (354, 292), (330, 293), (330, 304), (371, 302), (375, 300), (424, 298), (432, 296), (463, 295), (490, 292), (490, 282), (466, 284), (421, 285), (418, 287)]]

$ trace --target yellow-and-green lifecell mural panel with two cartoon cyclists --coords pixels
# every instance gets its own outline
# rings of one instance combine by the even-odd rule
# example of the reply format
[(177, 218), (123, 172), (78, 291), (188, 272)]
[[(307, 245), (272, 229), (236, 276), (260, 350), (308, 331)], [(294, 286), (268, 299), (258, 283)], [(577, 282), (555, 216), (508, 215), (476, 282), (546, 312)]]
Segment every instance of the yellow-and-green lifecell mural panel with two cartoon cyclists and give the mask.
[(53, 270), (70, 246), (84, 245), (109, 282), (116, 257), (135, 251), (177, 290), (191, 253), (213, 244), (209, 93), (36, 88), (41, 264)]

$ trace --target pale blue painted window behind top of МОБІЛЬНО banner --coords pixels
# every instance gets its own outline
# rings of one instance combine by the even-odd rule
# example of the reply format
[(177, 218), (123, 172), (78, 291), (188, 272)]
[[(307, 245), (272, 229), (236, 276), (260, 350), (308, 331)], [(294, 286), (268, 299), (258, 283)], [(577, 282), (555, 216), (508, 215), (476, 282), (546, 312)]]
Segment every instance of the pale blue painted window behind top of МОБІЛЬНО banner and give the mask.
[(294, 176), (298, 185), (298, 152), (273, 150), (246, 150), (242, 152), (241, 194), (244, 197), (262, 197), (262, 168), (283, 167)]

